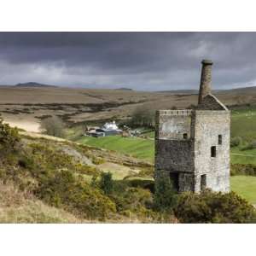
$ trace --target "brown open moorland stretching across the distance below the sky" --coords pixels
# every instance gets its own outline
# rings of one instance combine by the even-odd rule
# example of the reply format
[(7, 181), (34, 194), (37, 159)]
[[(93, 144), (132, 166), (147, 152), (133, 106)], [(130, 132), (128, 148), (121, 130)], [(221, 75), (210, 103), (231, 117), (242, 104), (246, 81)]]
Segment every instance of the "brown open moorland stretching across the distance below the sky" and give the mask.
[[(225, 105), (256, 101), (252, 90), (218, 92)], [(26, 88), (1, 86), (0, 111), (7, 122), (38, 131), (44, 117), (58, 115), (69, 123), (93, 122), (107, 119), (127, 119), (140, 106), (152, 109), (187, 108), (197, 102), (193, 94), (143, 92), (136, 90), (90, 90), (63, 87)], [(26, 128), (27, 127), (27, 128)]]

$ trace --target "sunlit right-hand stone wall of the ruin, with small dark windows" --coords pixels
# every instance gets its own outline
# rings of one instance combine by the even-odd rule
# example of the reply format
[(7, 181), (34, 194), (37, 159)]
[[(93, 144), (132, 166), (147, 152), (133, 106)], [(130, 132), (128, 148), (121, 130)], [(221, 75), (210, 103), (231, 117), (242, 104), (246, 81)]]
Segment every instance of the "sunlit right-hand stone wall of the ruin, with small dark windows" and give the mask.
[(229, 191), (230, 111), (196, 110), (194, 129), (195, 191), (201, 191), (202, 175), (207, 177), (207, 188)]

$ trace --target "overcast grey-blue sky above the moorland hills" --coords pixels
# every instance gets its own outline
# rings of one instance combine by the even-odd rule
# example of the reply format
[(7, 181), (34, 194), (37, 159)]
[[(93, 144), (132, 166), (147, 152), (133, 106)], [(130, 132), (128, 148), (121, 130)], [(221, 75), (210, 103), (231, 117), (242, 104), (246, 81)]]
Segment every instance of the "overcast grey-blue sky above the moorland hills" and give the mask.
[(0, 84), (136, 90), (256, 85), (255, 32), (0, 32)]

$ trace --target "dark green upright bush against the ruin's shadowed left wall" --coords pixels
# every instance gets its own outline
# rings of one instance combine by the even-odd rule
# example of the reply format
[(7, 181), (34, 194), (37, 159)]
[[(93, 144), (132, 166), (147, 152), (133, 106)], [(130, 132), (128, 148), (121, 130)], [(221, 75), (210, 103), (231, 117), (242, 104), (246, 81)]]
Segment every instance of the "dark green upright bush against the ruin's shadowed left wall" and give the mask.
[(171, 210), (174, 207), (177, 193), (173, 189), (171, 179), (159, 174), (155, 182), (154, 207), (160, 212)]

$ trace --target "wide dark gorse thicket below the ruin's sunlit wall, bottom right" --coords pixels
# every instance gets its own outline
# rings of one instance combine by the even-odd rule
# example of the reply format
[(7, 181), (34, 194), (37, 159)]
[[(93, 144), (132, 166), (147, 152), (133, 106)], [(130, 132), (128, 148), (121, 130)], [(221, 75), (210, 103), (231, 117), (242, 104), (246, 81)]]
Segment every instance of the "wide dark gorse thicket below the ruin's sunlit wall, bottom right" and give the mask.
[(178, 196), (174, 207), (182, 223), (255, 223), (255, 209), (234, 192), (201, 194), (191, 192)]

